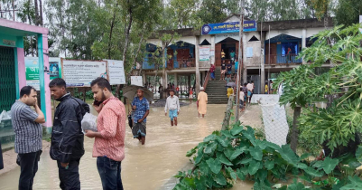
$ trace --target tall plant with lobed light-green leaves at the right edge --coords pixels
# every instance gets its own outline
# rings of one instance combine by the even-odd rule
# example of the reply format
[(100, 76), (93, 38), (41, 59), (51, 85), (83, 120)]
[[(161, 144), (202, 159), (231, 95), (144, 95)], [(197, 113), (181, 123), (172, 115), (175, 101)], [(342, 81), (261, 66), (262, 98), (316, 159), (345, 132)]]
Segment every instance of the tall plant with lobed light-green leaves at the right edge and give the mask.
[[(337, 26), (318, 33), (314, 38), (316, 43), (303, 49), (301, 54), (311, 64), (283, 72), (275, 81), (278, 86), (283, 83), (281, 103), (291, 103), (293, 109), (328, 99), (327, 109), (306, 110), (299, 119), (298, 129), (304, 138), (326, 143), (332, 151), (355, 141), (356, 133), (362, 130), (362, 48), (359, 43), (362, 35), (358, 27), (359, 24), (347, 28)], [(330, 70), (315, 74), (316, 68), (322, 66), (329, 66)], [(294, 123), (298, 116), (294, 115)], [(297, 131), (294, 129), (293, 132)]]

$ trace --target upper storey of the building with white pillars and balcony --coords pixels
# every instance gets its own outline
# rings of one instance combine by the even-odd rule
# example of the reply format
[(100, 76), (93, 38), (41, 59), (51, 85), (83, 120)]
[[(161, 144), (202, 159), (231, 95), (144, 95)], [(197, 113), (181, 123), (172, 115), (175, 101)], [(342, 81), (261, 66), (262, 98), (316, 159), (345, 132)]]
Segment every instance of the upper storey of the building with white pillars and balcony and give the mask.
[[(195, 90), (198, 92), (198, 84), (200, 86), (204, 84), (210, 64), (215, 64), (217, 67), (221, 65), (222, 51), (225, 53), (226, 62), (231, 60), (230, 52), (238, 55), (240, 42), (238, 29), (237, 31), (228, 30), (238, 21), (239, 15), (233, 14), (227, 17), (223, 23), (209, 24), (225, 28), (225, 30), (212, 34), (205, 34), (202, 31), (203, 28), (177, 31), (182, 37), (167, 47), (167, 52), (165, 51), (163, 55), (166, 60), (167, 75), (175, 75), (177, 79), (178, 75), (195, 74)], [(248, 21), (246, 18), (246, 22)], [(257, 23), (254, 31), (245, 30), (242, 36), (244, 52), (242, 66), (246, 73), (243, 75), (243, 82), (255, 81), (255, 93), (261, 93), (265, 81), (270, 80), (271, 75), (281, 71), (290, 71), (300, 64), (307, 63), (299, 58), (300, 52), (314, 43), (313, 35), (333, 27), (331, 18), (328, 23), (330, 25), (324, 26), (324, 22), (317, 19), (274, 21)], [(207, 32), (210, 29), (208, 28)], [(160, 33), (170, 32), (161, 31)], [(157, 47), (161, 46), (162, 41), (157, 37), (153, 36), (147, 40), (147, 51), (155, 51)], [(209, 50), (209, 59), (205, 59), (205, 50)], [(149, 74), (162, 71), (162, 68), (158, 68), (158, 70), (154, 68), (151, 57), (144, 59), (144, 79)], [(328, 66), (327, 63), (326, 66)]]

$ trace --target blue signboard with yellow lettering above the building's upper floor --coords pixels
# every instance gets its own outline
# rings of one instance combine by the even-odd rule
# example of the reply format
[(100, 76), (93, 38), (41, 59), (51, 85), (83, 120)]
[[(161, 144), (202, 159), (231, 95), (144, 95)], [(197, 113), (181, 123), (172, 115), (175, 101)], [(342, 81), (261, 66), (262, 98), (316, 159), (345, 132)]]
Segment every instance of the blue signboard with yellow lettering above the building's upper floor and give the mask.
[[(218, 34), (218, 33), (238, 33), (240, 22), (230, 22), (221, 24), (204, 24), (201, 34)], [(255, 21), (244, 21), (244, 32), (256, 31)]]

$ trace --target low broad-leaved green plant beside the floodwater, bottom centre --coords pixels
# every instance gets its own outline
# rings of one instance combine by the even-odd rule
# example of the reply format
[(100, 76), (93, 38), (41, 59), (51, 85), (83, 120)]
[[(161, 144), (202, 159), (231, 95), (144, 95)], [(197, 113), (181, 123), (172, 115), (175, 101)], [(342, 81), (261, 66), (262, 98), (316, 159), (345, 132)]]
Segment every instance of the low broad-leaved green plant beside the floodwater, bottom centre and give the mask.
[[(362, 158), (362, 150), (358, 154)], [(257, 139), (253, 128), (238, 123), (229, 130), (213, 132), (186, 156), (192, 157), (194, 168), (175, 176), (180, 183), (174, 189), (227, 188), (237, 178), (254, 180), (255, 189), (271, 189), (276, 181), (292, 176), (302, 175), (309, 182), (331, 176), (339, 165), (339, 159), (329, 157), (310, 165), (305, 161), (309, 154), (299, 157), (289, 145), (279, 147)], [(291, 189), (299, 184), (295, 186)]]

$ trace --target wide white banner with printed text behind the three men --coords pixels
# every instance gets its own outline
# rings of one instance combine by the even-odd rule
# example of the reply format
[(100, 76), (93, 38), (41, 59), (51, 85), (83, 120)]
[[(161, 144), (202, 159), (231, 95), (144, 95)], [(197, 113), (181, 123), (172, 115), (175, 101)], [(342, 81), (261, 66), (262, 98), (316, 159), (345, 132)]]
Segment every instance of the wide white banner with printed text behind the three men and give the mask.
[(98, 77), (107, 79), (107, 62), (61, 59), (61, 72), (68, 87), (90, 87)]

